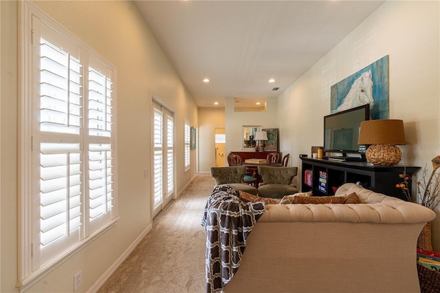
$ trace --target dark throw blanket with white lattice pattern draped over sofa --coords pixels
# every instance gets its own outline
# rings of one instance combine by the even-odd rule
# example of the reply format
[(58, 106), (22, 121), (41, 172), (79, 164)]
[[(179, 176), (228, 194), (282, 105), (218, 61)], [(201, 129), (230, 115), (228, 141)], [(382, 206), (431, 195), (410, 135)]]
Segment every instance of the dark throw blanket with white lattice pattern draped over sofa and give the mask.
[(227, 185), (216, 186), (206, 203), (206, 292), (220, 292), (239, 269), (246, 238), (264, 213), (263, 202), (243, 202)]

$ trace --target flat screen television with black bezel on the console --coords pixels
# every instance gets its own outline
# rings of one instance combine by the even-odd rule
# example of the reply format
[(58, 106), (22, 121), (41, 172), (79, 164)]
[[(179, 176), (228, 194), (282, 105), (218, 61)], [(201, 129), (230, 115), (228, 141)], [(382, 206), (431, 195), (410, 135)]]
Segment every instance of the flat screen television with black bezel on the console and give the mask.
[(324, 151), (327, 153), (365, 153), (358, 144), (360, 122), (370, 119), (370, 105), (362, 105), (324, 117)]

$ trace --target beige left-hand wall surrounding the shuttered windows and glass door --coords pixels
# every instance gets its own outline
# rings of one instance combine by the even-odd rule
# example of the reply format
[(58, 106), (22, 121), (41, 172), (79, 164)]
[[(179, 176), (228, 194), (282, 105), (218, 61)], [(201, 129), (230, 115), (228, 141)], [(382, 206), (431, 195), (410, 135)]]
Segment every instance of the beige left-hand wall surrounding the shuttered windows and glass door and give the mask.
[[(195, 176), (184, 171), (184, 119), (197, 107), (131, 1), (35, 1), (34, 4), (117, 67), (120, 221), (43, 276), (28, 292), (84, 292), (151, 227), (151, 97), (175, 111), (176, 190)], [(17, 292), (17, 2), (1, 6), (1, 292)], [(6, 127), (7, 126), (7, 127)]]

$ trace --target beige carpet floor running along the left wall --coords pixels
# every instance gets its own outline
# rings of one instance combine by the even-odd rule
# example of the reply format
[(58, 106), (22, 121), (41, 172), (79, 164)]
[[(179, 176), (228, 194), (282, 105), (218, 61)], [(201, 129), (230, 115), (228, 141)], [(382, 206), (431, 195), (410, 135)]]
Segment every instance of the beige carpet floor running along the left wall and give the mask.
[(98, 292), (205, 292), (201, 217), (213, 186), (210, 175), (197, 175)]

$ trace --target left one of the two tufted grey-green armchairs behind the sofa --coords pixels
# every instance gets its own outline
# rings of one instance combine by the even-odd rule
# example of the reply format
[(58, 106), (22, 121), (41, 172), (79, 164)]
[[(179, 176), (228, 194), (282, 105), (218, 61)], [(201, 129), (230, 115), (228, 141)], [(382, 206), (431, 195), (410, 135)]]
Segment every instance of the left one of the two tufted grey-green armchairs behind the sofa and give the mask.
[(253, 195), (258, 193), (254, 186), (243, 183), (246, 166), (211, 167), (210, 171), (216, 185), (228, 184), (236, 191), (245, 191)]

